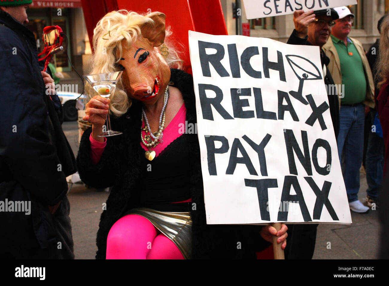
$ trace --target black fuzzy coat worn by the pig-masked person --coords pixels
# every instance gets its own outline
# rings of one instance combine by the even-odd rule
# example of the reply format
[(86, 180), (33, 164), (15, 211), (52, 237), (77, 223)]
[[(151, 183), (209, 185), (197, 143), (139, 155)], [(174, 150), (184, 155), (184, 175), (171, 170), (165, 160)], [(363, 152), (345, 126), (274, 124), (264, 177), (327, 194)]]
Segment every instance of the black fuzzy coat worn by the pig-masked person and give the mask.
[[(196, 108), (193, 78), (182, 70), (172, 69), (171, 73), (170, 81), (182, 93), (187, 109), (188, 124), (194, 124), (196, 123)], [(111, 116), (111, 126), (112, 130), (121, 131), (123, 135), (108, 138), (99, 163), (93, 165), (90, 159), (89, 135), (92, 128), (84, 132), (77, 156), (79, 174), (85, 184), (96, 188), (113, 186), (107, 200), (107, 209), (101, 215), (97, 232), (96, 258), (98, 259), (105, 259), (107, 236), (112, 225), (134, 206), (131, 199), (140, 165), (140, 155), (135, 150), (138, 150), (140, 144), (141, 103), (133, 100), (133, 105), (126, 114), (119, 118)], [(196, 203), (196, 210), (191, 211), (193, 258), (256, 258), (256, 252), (270, 245), (259, 235), (261, 226), (206, 224), (197, 134), (188, 135), (187, 147), (190, 150), (187, 167), (191, 172), (188, 187), (192, 201)]]

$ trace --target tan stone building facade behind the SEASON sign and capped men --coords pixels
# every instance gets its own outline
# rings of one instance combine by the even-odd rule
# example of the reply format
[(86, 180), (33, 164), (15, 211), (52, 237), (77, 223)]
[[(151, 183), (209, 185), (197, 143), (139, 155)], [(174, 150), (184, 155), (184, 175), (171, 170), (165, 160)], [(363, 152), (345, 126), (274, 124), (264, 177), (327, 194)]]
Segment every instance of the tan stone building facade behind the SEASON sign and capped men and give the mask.
[[(233, 3), (235, 3), (235, 0), (221, 0), (229, 35), (236, 35)], [(377, 22), (388, 12), (389, 0), (357, 0), (357, 3), (357, 5), (349, 6), (356, 16), (350, 37), (358, 39), (367, 50), (379, 37)], [(263, 37), (287, 42), (294, 29), (293, 14), (247, 20), (243, 0), (241, 0), (241, 6), (242, 23), (250, 24), (251, 37)]]

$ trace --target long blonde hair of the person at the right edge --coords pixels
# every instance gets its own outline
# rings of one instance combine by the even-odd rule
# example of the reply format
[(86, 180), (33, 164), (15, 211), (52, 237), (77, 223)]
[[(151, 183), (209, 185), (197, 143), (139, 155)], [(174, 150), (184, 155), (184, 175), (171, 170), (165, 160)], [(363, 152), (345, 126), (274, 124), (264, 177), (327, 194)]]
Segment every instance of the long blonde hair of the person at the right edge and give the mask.
[(381, 25), (380, 54), (377, 62), (378, 88), (389, 78), (389, 17)]

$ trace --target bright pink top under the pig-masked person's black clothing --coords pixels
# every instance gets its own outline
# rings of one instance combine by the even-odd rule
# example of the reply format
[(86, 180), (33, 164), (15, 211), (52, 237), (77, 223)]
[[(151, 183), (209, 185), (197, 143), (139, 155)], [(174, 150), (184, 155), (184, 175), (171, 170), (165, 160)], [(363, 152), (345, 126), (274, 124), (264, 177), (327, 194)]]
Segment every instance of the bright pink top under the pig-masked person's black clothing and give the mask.
[[(163, 149), (166, 148), (170, 143), (172, 143), (175, 139), (180, 137), (185, 132), (185, 121), (186, 121), (186, 107), (185, 104), (182, 104), (180, 110), (174, 116), (172, 121), (170, 121), (169, 125), (165, 127), (163, 130), (163, 143), (158, 144), (156, 147), (152, 148), (155, 151), (156, 157), (161, 154)], [(142, 122), (142, 126), (144, 126), (144, 122)], [(146, 135), (145, 131), (142, 130), (143, 137)], [(104, 142), (98, 142), (93, 139), (92, 134), (89, 136), (89, 141), (91, 142), (91, 161), (92, 164), (97, 164), (100, 161), (101, 155), (104, 152), (105, 146), (107, 145), (107, 138), (104, 137)], [(142, 142), (140, 145), (143, 147), (145, 151), (149, 151), (149, 148), (144, 146)], [(182, 202), (191, 202), (192, 200), (185, 200)], [(181, 203), (181, 202), (176, 202)]]

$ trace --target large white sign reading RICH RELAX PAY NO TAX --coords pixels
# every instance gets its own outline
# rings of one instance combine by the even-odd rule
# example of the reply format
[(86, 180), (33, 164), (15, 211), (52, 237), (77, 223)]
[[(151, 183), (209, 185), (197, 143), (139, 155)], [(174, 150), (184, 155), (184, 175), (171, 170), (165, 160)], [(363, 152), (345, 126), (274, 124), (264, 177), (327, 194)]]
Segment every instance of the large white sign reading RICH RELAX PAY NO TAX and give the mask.
[(189, 31), (208, 224), (351, 223), (319, 47)]

